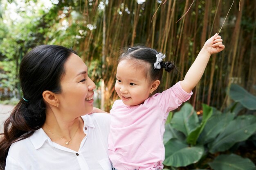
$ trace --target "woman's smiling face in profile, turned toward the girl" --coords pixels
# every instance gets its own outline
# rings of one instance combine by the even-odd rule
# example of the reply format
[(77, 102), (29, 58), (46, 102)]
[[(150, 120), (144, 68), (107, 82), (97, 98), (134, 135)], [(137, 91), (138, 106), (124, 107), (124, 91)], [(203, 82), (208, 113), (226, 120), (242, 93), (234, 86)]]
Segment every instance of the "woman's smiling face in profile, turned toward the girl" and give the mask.
[(58, 104), (62, 113), (71, 117), (88, 114), (93, 109), (95, 84), (88, 76), (88, 67), (82, 59), (72, 53), (64, 64), (65, 74), (61, 78), (61, 94)]

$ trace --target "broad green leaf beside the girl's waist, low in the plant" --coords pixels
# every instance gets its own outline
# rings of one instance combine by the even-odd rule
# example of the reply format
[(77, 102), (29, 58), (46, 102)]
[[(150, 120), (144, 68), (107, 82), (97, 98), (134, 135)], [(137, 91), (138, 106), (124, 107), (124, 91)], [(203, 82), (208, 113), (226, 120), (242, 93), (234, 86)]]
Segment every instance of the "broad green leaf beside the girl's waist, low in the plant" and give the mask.
[(200, 160), (204, 153), (203, 146), (193, 146), (182, 143), (178, 139), (171, 139), (165, 145), (165, 160), (166, 166), (188, 166)]

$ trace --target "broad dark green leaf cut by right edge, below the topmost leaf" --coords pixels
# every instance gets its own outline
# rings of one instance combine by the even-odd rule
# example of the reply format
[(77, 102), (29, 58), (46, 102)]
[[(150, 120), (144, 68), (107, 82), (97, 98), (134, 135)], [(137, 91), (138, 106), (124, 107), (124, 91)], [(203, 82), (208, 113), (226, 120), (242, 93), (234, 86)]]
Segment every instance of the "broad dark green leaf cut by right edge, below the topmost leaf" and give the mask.
[(225, 130), (209, 143), (210, 153), (225, 151), (236, 142), (242, 142), (248, 139), (256, 131), (256, 116), (243, 115), (238, 116), (231, 121)]

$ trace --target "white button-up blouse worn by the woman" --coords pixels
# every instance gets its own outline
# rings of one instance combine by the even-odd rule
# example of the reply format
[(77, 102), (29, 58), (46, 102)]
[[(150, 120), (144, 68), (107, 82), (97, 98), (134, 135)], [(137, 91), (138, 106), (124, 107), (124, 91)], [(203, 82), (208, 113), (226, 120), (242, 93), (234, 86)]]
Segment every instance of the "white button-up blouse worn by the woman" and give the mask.
[(108, 158), (110, 115), (82, 116), (87, 135), (76, 152), (51, 141), (42, 128), (11, 145), (5, 170), (112, 170)]

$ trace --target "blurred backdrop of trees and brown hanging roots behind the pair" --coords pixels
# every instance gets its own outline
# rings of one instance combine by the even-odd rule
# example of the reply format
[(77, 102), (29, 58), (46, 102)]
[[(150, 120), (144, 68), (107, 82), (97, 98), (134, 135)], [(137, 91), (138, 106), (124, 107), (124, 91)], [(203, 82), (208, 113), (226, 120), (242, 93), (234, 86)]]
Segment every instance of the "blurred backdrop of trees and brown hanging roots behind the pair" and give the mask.
[[(0, 0), (1, 103), (15, 105), (20, 100), (20, 60), (39, 44), (72, 46), (97, 84), (94, 106), (106, 111), (118, 97), (114, 89), (117, 58), (130, 46), (155, 48), (166, 54), (166, 61), (174, 61), (179, 71), (165, 72), (161, 83), (162, 89), (171, 87), (185, 76), (204, 42), (220, 31), (232, 2)], [(202, 103), (220, 110), (229, 105), (231, 84), (256, 94), (255, 28), (256, 1), (235, 0), (220, 31), (226, 48), (212, 55), (189, 100), (196, 110)]]

